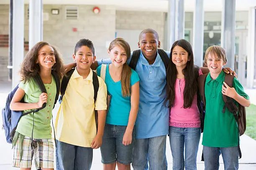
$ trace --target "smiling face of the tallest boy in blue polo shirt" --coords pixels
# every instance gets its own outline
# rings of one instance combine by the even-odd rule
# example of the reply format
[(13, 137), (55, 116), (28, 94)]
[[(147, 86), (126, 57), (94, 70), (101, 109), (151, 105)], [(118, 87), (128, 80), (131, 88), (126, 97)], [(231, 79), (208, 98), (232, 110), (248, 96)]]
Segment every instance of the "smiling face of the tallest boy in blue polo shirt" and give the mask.
[(145, 33), (141, 35), (138, 47), (147, 60), (154, 60), (157, 54), (157, 47), (160, 47), (160, 41), (153, 33)]

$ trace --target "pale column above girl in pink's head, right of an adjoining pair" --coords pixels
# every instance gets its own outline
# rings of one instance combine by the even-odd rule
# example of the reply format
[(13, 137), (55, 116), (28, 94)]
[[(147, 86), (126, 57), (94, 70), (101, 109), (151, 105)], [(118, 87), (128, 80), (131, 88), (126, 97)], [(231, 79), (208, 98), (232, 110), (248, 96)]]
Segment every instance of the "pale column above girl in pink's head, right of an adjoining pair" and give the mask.
[(185, 13), (184, 0), (179, 0), (177, 7), (177, 38), (175, 40), (184, 39)]

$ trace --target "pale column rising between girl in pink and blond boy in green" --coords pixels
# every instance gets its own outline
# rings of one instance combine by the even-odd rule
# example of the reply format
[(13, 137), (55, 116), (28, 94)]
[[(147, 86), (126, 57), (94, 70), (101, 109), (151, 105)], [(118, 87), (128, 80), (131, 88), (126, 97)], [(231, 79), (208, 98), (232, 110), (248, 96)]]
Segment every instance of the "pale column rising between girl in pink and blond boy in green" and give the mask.
[(195, 65), (202, 67), (204, 44), (204, 0), (195, 0), (193, 19), (193, 52)]

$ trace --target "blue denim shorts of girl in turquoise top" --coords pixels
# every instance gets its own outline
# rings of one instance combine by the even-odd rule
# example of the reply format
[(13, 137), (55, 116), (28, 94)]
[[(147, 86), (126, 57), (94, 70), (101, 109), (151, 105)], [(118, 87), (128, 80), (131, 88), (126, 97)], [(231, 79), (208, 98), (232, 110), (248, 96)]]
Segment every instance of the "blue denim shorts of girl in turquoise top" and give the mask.
[(102, 145), (100, 147), (101, 162), (111, 164), (116, 161), (121, 164), (132, 163), (132, 151), (135, 141), (135, 128), (132, 133), (132, 143), (123, 145), (123, 135), (127, 126), (105, 124)]

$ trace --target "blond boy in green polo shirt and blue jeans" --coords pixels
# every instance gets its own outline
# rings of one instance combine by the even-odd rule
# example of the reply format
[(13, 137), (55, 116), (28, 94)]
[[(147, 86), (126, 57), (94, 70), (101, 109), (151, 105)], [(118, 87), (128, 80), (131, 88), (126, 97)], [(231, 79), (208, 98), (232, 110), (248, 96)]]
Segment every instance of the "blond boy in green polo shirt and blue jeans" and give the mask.
[[(205, 122), (202, 139), (205, 170), (219, 169), (219, 156), (223, 157), (225, 170), (238, 170), (238, 127), (233, 114), (225, 109), (223, 95), (227, 95), (242, 106), (248, 107), (250, 100), (241, 83), (234, 77), (233, 87), (225, 82), (222, 68), (227, 63), (223, 47), (211, 46), (205, 52), (205, 64), (210, 70), (205, 81)], [(225, 85), (225, 86), (224, 86)]]

